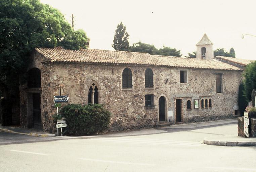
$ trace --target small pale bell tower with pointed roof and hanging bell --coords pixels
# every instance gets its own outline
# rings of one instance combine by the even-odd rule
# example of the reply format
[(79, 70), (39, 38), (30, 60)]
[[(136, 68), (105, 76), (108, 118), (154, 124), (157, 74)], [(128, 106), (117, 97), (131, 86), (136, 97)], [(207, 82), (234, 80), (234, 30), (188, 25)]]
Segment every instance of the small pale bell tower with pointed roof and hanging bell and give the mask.
[(213, 43), (208, 36), (204, 34), (203, 38), (197, 43), (197, 58), (198, 59), (213, 59)]

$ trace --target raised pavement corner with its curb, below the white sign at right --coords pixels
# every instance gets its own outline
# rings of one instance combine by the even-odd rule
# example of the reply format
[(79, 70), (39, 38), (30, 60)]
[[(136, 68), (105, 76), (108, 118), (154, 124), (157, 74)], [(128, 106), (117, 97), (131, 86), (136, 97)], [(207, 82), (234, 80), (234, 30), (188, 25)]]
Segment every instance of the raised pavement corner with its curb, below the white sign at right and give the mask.
[(203, 140), (204, 144), (216, 146), (256, 146), (256, 138), (244, 138), (236, 135), (211, 136)]

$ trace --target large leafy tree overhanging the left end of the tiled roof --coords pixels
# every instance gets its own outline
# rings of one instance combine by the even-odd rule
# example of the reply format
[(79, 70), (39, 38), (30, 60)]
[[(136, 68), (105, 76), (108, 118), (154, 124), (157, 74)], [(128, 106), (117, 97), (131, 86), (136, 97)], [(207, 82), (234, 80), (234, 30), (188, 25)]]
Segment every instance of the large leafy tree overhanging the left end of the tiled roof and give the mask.
[(84, 31), (74, 31), (55, 8), (39, 0), (0, 0), (0, 82), (17, 86), (35, 47), (86, 48)]

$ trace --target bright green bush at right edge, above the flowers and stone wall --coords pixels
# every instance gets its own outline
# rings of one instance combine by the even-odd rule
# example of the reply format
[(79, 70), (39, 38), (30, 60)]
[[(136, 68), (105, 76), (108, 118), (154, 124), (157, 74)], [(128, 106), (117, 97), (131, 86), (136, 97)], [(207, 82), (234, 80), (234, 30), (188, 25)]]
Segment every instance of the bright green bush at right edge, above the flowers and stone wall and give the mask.
[(246, 101), (250, 102), (252, 100), (251, 94), (252, 90), (256, 88), (256, 61), (250, 63), (246, 66), (244, 70), (244, 96)]

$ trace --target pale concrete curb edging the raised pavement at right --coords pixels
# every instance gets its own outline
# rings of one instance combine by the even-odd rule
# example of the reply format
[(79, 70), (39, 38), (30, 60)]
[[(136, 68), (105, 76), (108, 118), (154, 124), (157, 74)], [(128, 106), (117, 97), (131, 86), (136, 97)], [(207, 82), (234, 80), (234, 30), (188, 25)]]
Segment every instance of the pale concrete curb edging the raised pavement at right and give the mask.
[(256, 141), (216, 141), (208, 137), (204, 138), (203, 143), (215, 146), (256, 146)]

